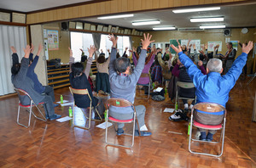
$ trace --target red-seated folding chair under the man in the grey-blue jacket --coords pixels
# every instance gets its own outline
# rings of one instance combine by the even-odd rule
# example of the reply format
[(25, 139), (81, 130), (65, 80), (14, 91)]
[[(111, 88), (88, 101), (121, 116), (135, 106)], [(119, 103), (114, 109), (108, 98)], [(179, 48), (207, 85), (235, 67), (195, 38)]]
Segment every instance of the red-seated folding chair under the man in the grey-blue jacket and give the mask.
[[(134, 109), (133, 118), (131, 118), (130, 120), (118, 120), (118, 119), (113, 118), (112, 116), (108, 116), (109, 115), (108, 111), (109, 111), (109, 107), (110, 106), (119, 107), (119, 108), (131, 107), (132, 109)], [(129, 102), (128, 100), (123, 99), (123, 98), (109, 98), (107, 100), (107, 108), (108, 108), (108, 110), (107, 110), (107, 117), (106, 117), (107, 120), (106, 120), (106, 139), (105, 139), (105, 142), (108, 145), (124, 147), (124, 148), (132, 148), (132, 146), (134, 144), (135, 122), (137, 122), (136, 109), (135, 109), (134, 105), (131, 104), (131, 102)], [(131, 145), (130, 146), (120, 145), (120, 144), (116, 144), (116, 143), (108, 143), (108, 120), (113, 122), (113, 124), (114, 123), (122, 123), (122, 124), (133, 123), (132, 134), (125, 134), (124, 133), (124, 135), (132, 136)], [(138, 122), (137, 122), (137, 126), (138, 126)], [(114, 129), (115, 132), (117, 132), (117, 129), (115, 128), (114, 125), (113, 125), (113, 129)], [(138, 131), (138, 132), (139, 132), (139, 135), (140, 135), (141, 134), (140, 131)]]

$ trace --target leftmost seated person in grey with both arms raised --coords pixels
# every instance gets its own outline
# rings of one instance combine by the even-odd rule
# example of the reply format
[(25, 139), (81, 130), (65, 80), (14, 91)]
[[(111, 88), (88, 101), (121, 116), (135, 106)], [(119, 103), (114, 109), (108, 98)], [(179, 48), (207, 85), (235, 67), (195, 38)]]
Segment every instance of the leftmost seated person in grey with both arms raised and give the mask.
[[(12, 66), (12, 83), (16, 88), (20, 88), (32, 97), (32, 100), (35, 104), (39, 104), (44, 102), (44, 110), (45, 110), (45, 117), (49, 120), (55, 120), (61, 118), (61, 115), (55, 114), (55, 106), (53, 103), (52, 98), (45, 94), (39, 93), (35, 89), (34, 81), (27, 75), (28, 70), (30, 70), (29, 66), (29, 55), (31, 53), (31, 48), (29, 45), (26, 46), (24, 49), (25, 56), (21, 60), (21, 64), (19, 64), (18, 55), (14, 47), (11, 47), (13, 51), (12, 59), (13, 59), (13, 66)], [(40, 48), (38, 51), (41, 50)], [(38, 53), (39, 54), (39, 53)], [(33, 66), (33, 65), (32, 65)], [(33, 69), (31, 68), (31, 71)], [(30, 99), (27, 96), (20, 96), (21, 104), (30, 104)]]

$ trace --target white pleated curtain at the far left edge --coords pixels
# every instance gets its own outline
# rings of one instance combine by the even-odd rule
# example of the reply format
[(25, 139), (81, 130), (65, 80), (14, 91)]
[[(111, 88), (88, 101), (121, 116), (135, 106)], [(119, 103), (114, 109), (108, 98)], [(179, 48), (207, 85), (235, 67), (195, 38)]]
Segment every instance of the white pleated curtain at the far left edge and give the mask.
[(0, 96), (15, 92), (11, 82), (12, 51), (17, 50), (19, 59), (24, 56), (26, 47), (26, 27), (0, 25)]

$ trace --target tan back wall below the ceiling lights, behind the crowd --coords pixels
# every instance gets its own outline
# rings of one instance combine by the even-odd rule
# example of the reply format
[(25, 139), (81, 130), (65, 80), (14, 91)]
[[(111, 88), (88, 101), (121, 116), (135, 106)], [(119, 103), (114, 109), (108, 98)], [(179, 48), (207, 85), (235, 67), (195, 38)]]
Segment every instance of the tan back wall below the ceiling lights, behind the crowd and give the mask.
[[(240, 40), (240, 42), (254, 41), (256, 42), (256, 37), (253, 35), (255, 28), (250, 28), (247, 34), (242, 34), (241, 29), (231, 29), (230, 40)], [(201, 44), (207, 42), (222, 42), (222, 53), (226, 52), (225, 46), (225, 36), (223, 30), (209, 30), (209, 31), (191, 31), (191, 32), (181, 32), (181, 31), (149, 31), (152, 34), (152, 40), (155, 42), (169, 42), (170, 39), (201, 39)], [(241, 48), (238, 47), (236, 56), (241, 54)], [(255, 64), (254, 64), (255, 66)], [(253, 67), (253, 52), (249, 53), (247, 59), (247, 72)], [(255, 68), (254, 68), (255, 69)]]

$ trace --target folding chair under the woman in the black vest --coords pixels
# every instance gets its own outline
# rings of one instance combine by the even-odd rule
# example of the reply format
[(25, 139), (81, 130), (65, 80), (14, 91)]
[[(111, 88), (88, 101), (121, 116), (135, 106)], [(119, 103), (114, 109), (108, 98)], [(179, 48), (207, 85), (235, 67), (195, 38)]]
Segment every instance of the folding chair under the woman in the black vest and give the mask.
[[(73, 94), (80, 94), (80, 95), (87, 95), (89, 98), (90, 98), (90, 94), (89, 94), (89, 92), (88, 92), (88, 90), (87, 89), (74, 89), (73, 87), (69, 87), (69, 90), (70, 90), (70, 92), (72, 93), (72, 95)], [(74, 112), (74, 110), (75, 110), (75, 99), (73, 100), (73, 126), (76, 126), (76, 127), (79, 127), (79, 128), (82, 128), (82, 129), (90, 129), (90, 120), (95, 120), (95, 119), (91, 119), (91, 110), (93, 109), (93, 107), (91, 106), (91, 104), (92, 104), (92, 100), (91, 100), (91, 98), (90, 98), (90, 107), (89, 107), (89, 117), (87, 117), (86, 115), (85, 115), (85, 113), (84, 113), (84, 111), (82, 110), (82, 112), (83, 112), (83, 114), (84, 114), (84, 116), (85, 116), (85, 118), (87, 119), (87, 120), (89, 120), (89, 123), (88, 123), (88, 125), (89, 126), (78, 126), (78, 125), (75, 125), (75, 123), (74, 123), (74, 120), (75, 120), (75, 112)], [(81, 108), (80, 108), (81, 109)], [(95, 108), (96, 109), (96, 108)], [(102, 121), (102, 116), (99, 114), (99, 112), (98, 112), (98, 110), (96, 109), (96, 113), (100, 116), (100, 120), (99, 121)], [(85, 123), (86, 124), (86, 123)]]

